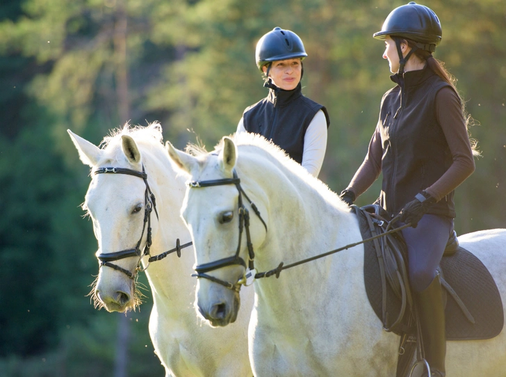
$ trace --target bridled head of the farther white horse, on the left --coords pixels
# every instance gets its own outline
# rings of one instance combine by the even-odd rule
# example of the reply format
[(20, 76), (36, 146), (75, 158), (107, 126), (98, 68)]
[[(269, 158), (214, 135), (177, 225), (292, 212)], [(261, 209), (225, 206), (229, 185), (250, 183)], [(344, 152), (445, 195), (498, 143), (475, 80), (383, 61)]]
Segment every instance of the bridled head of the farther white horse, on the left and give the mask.
[(101, 268), (92, 291), (95, 306), (108, 312), (135, 309), (142, 296), (135, 284), (140, 259), (158, 227), (156, 215), (150, 214), (154, 202), (140, 150), (127, 134), (111, 136), (100, 149), (68, 133), (81, 161), (92, 168), (83, 209), (92, 219), (99, 246)]

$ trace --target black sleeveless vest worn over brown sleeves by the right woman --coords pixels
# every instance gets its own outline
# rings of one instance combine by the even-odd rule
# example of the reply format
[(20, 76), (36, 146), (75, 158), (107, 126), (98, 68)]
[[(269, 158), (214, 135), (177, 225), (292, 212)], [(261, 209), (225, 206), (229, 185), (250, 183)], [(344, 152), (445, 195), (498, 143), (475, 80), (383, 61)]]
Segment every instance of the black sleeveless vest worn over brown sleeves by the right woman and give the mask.
[[(391, 79), (398, 86), (384, 94), (377, 127), (383, 147), (379, 200), (394, 216), (450, 168), (452, 155), (435, 104), (438, 91), (449, 84), (427, 67)], [(454, 218), (453, 193), (433, 204), (428, 213)]]

